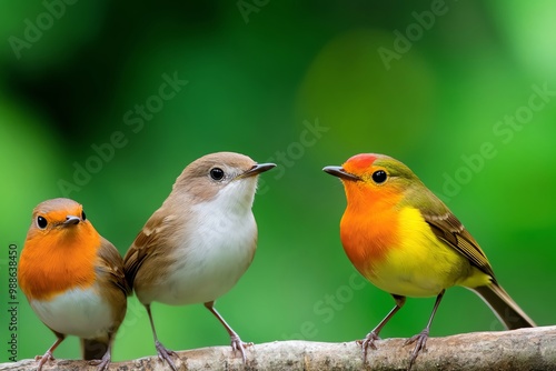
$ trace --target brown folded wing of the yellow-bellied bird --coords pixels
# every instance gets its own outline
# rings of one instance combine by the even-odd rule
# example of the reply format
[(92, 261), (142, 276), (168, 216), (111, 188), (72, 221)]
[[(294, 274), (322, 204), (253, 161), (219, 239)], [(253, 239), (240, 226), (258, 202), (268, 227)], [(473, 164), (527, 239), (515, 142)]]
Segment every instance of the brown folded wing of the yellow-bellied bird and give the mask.
[(446, 207), (445, 209), (446, 212), (443, 214), (424, 213), (423, 217), (438, 239), (469, 259), (473, 265), (494, 279), (493, 268), (477, 241)]

